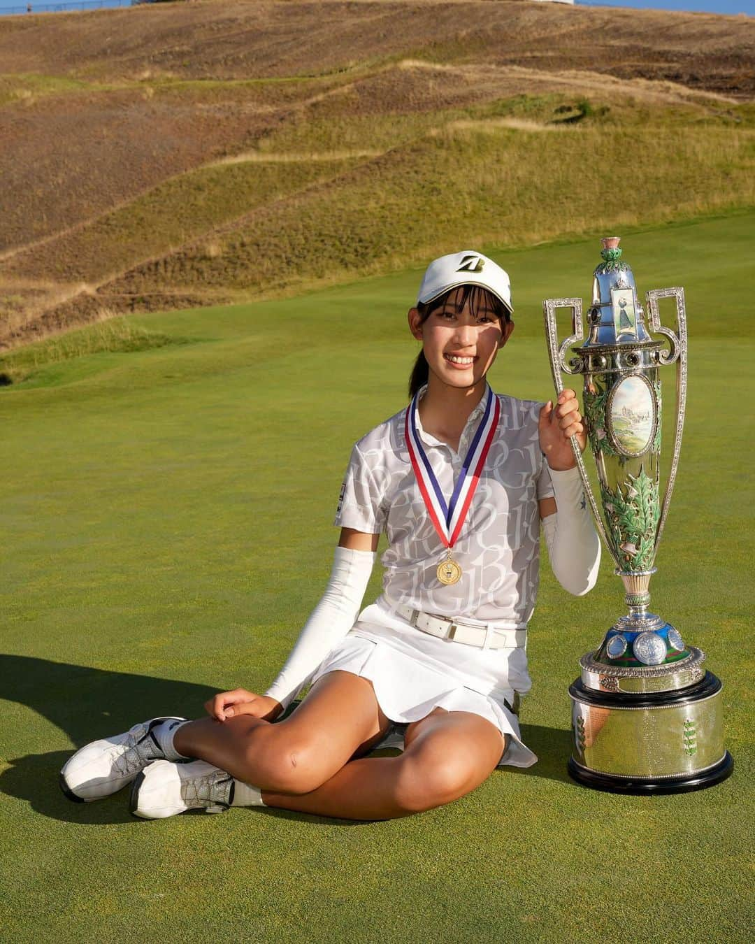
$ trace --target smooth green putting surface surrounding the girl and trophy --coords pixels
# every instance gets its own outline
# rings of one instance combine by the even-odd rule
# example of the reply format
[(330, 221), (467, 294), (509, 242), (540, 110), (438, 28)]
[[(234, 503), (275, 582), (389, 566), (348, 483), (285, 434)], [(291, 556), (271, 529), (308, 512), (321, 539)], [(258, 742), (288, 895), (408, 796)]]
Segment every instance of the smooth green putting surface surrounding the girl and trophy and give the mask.
[[(566, 688), (622, 610), (604, 560), (583, 599), (544, 567), (523, 711), (541, 760), (527, 772), (385, 823), (274, 810), (143, 823), (124, 795), (68, 803), (57, 773), (76, 745), (276, 673), (327, 578), (349, 447), (406, 402), (420, 272), (135, 316), (186, 343), (40, 362), (1, 390), (3, 937), (744, 940), (752, 224), (619, 229), (641, 290), (687, 290), (689, 418), (651, 589), (726, 686), (737, 769), (699, 793), (617, 798), (564, 774)], [(541, 300), (588, 295), (596, 239), (497, 258), (517, 327), (494, 387), (545, 399)]]

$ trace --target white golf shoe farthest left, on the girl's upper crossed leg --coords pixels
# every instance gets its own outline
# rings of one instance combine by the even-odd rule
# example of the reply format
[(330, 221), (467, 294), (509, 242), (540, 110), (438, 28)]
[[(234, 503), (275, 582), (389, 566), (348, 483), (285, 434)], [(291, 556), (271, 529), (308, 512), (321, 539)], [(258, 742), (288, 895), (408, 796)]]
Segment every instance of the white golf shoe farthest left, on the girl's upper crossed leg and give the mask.
[[(77, 803), (100, 800), (130, 784), (147, 764), (164, 760), (154, 729), (163, 721), (183, 717), (153, 717), (123, 734), (92, 741), (77, 750), (60, 771), (60, 789)], [(177, 754), (176, 754), (177, 757)]]

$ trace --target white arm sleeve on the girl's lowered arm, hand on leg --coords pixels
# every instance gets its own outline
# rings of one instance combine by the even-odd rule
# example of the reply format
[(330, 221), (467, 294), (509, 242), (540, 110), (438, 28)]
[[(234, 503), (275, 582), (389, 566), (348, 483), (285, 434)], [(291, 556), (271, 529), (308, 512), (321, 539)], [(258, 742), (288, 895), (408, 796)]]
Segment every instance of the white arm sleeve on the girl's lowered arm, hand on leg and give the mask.
[(312, 610), (294, 649), (265, 695), (288, 708), (310, 681), (327, 653), (354, 625), (375, 557), (370, 550), (336, 548), (323, 598)]

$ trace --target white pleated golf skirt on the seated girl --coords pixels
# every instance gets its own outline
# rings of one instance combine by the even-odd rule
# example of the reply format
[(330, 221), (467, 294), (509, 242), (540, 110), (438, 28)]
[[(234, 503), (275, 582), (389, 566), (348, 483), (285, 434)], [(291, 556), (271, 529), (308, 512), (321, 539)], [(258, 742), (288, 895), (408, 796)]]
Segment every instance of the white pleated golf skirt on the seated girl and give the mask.
[[(513, 704), (514, 690), (529, 688), (524, 649), (478, 649), (438, 639), (411, 626), (380, 598), (328, 653), (312, 683), (336, 670), (369, 679), (381, 711), (396, 725), (418, 721), (433, 708), (471, 712), (509, 735), (498, 767), (531, 767), (537, 761), (505, 704)], [(401, 729), (379, 747), (403, 749)]]

